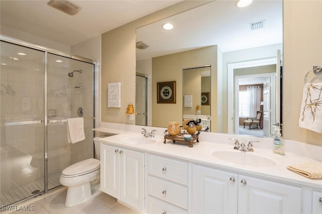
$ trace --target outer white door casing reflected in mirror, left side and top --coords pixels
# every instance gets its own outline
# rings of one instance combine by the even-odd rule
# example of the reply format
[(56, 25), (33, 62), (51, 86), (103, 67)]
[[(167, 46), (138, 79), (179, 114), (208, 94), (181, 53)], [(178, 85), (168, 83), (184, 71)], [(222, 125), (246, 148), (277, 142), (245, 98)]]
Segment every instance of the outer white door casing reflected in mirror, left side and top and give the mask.
[[(235, 110), (238, 110), (238, 105), (234, 104), (233, 100), (233, 85), (234, 85), (234, 79), (233, 79), (233, 69), (236, 68), (249, 68), (249, 67), (256, 67), (256, 66), (264, 66), (264, 65), (275, 65), (277, 61), (277, 57), (267, 58), (267, 59), (259, 59), (259, 60), (253, 60), (253, 61), (247, 61), (247, 62), (236, 62), (236, 63), (229, 63), (227, 64), (228, 69), (228, 134), (235, 134), (234, 133), (234, 125), (233, 125), (233, 119), (236, 116)], [(238, 103), (238, 102), (235, 102)], [(236, 133), (238, 134), (238, 133)]]

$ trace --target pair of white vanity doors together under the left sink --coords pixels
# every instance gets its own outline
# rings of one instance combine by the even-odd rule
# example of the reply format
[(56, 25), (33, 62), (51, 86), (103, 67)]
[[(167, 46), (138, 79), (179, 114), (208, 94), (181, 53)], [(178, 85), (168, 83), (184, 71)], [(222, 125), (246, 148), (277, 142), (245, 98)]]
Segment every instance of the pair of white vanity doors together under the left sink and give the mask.
[(101, 145), (101, 190), (144, 210), (144, 153)]

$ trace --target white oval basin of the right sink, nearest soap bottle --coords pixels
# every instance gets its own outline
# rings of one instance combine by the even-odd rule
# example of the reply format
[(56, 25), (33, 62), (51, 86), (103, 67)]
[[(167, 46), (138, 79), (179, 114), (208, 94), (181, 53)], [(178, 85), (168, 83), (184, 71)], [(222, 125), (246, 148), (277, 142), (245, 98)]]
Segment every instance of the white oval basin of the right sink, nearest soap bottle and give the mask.
[(254, 154), (254, 152), (241, 151), (214, 151), (211, 152), (216, 159), (226, 161), (233, 164), (254, 167), (274, 167), (277, 163), (269, 158)]

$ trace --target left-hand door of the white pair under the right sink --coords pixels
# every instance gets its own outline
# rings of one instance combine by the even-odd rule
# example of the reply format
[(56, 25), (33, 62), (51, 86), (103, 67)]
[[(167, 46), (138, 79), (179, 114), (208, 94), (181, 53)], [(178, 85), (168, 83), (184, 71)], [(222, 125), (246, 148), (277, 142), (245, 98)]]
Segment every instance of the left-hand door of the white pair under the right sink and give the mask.
[(192, 213), (237, 213), (238, 175), (193, 165)]

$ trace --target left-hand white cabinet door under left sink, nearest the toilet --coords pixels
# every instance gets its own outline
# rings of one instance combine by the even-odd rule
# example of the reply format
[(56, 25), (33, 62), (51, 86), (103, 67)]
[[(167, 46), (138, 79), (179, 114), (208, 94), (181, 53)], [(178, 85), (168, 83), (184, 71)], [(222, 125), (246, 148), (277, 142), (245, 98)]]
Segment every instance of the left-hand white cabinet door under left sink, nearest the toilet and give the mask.
[(116, 198), (120, 198), (119, 151), (117, 147), (101, 145), (101, 190)]

